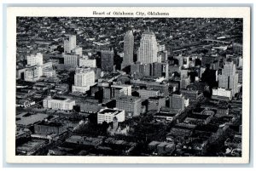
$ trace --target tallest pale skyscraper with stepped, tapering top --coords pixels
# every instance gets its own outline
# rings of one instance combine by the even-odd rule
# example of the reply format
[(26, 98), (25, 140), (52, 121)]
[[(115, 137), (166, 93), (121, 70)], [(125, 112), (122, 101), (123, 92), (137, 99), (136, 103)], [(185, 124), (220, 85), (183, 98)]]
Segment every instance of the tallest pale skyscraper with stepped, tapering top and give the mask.
[(137, 61), (144, 64), (157, 62), (157, 42), (154, 32), (144, 31), (137, 51)]

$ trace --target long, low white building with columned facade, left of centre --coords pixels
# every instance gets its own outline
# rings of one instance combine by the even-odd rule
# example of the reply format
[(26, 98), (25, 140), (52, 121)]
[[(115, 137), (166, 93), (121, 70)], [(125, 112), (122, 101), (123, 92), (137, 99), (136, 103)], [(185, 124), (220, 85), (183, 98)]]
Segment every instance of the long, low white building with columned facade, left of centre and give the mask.
[(44, 108), (55, 109), (55, 110), (73, 110), (75, 100), (69, 100), (61, 97), (47, 97), (43, 100)]

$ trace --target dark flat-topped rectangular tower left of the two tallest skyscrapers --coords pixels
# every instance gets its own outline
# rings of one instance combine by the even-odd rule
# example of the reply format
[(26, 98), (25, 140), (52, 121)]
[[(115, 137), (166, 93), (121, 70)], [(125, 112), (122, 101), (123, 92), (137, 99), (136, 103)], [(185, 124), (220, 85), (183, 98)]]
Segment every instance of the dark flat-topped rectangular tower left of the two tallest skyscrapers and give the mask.
[(102, 71), (113, 71), (113, 50), (102, 50)]

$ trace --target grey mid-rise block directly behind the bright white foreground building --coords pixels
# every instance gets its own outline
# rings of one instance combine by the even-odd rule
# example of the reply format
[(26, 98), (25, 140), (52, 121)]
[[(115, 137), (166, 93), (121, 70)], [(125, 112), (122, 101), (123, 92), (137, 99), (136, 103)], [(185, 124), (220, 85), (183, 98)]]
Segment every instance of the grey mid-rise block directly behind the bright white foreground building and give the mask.
[(142, 99), (134, 96), (122, 96), (116, 99), (116, 108), (125, 110), (126, 117), (139, 116), (142, 112)]

